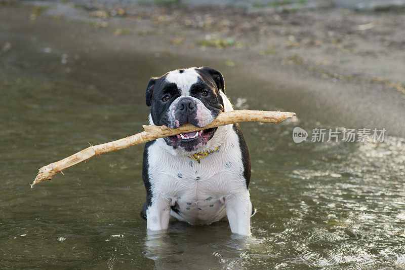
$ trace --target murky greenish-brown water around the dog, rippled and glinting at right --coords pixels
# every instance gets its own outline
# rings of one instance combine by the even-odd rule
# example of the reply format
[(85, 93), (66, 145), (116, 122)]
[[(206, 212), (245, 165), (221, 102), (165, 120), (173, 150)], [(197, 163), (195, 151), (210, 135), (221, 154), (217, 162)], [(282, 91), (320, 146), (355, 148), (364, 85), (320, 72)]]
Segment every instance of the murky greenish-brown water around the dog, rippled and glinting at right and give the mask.
[[(142, 146), (29, 188), (39, 167), (89, 143), (141, 131), (149, 76), (204, 64), (170, 55), (60, 50), (34, 37), (8, 33), (0, 40), (13, 44), (0, 56), (1, 267), (405, 268), (405, 140), (294, 143), (294, 127), (319, 127), (310, 118), (241, 124), (258, 210), (249, 239), (231, 235), (226, 222), (176, 222), (165, 236), (148, 237), (139, 215)], [(247, 93), (249, 80), (227, 80), (233, 103), (293, 110)]]

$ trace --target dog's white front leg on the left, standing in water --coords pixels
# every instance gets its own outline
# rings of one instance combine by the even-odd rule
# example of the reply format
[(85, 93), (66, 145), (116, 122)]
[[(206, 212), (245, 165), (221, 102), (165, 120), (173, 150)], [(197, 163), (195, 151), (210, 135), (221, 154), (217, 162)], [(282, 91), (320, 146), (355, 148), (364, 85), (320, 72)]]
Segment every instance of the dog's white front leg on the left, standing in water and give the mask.
[(146, 223), (149, 230), (165, 230), (169, 226), (171, 200), (158, 197), (146, 210)]

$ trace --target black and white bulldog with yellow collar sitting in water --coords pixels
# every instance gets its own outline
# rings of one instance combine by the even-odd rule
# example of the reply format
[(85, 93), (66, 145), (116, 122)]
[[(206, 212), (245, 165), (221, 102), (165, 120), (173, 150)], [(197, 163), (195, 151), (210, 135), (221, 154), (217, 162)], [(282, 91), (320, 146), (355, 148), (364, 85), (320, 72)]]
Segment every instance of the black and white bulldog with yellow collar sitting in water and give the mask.
[[(145, 97), (149, 123), (171, 128), (205, 127), (233, 110), (222, 74), (209, 67), (152, 78)], [(169, 220), (203, 225), (227, 218), (232, 233), (250, 235), (250, 176), (249, 150), (237, 124), (150, 141), (143, 155), (141, 214), (149, 230), (167, 229)]]

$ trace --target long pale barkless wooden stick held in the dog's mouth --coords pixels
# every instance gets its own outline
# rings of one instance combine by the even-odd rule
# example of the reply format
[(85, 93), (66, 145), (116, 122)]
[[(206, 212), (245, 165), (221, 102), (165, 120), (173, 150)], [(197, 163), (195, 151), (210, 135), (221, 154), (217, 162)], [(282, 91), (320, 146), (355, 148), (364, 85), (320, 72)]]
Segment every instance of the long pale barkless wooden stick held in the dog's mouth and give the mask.
[(90, 146), (82, 151), (75, 153), (74, 155), (67, 157), (63, 160), (51, 163), (47, 166), (39, 169), (38, 175), (34, 182), (31, 184), (33, 187), (35, 184), (44, 180), (51, 180), (51, 178), (57, 174), (62, 173), (64, 169), (72, 167), (80, 162), (87, 161), (88, 159), (103, 155), (104, 153), (128, 148), (137, 144), (145, 143), (158, 138), (177, 135), (180, 133), (193, 132), (203, 129), (209, 129), (238, 122), (264, 122), (264, 123), (280, 123), (287, 118), (294, 117), (294, 112), (281, 112), (281, 111), (262, 111), (262, 110), (233, 110), (223, 112), (218, 117), (205, 126), (204, 128), (197, 128), (191, 124), (185, 124), (177, 129), (172, 129), (167, 126), (143, 126), (145, 131), (128, 136), (123, 139), (119, 139), (112, 142), (106, 142), (99, 145)]

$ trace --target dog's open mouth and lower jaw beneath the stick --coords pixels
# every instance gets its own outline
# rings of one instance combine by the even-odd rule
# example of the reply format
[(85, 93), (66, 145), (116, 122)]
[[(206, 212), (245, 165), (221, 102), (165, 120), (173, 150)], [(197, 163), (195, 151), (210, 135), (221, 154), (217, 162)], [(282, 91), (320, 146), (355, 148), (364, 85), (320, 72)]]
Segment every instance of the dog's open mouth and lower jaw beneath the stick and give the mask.
[(185, 151), (194, 151), (197, 148), (207, 144), (214, 136), (217, 128), (203, 129), (200, 131), (193, 131), (182, 133), (174, 136), (166, 137), (166, 143), (176, 148), (182, 148)]

